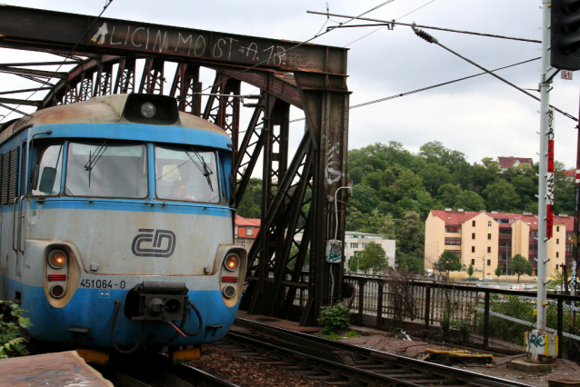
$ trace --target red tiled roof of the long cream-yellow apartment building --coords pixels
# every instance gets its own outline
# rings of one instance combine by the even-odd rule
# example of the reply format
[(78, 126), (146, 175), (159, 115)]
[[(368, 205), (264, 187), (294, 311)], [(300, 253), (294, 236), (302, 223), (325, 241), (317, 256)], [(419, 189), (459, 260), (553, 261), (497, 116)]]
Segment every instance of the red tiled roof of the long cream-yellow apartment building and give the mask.
[[(474, 211), (465, 211), (460, 213), (458, 211), (442, 211), (442, 210), (432, 210), (433, 216), (442, 219), (445, 224), (448, 225), (460, 225), (465, 223), (471, 218), (475, 218), (479, 213)], [(487, 216), (493, 219), (507, 219), (509, 223), (504, 225), (512, 224), (517, 221), (522, 221), (530, 226), (531, 230), (538, 229), (538, 219), (537, 215), (523, 215), (521, 213), (485, 213)], [(566, 231), (571, 232), (574, 230), (574, 217), (573, 216), (559, 216), (554, 215), (555, 224), (564, 224)]]

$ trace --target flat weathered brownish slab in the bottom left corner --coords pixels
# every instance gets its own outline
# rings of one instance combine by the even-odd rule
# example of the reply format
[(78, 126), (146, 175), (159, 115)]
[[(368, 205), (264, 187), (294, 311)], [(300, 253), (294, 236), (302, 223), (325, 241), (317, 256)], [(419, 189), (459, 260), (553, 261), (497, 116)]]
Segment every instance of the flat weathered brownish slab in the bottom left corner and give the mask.
[(0, 360), (3, 385), (87, 385), (113, 387), (75, 351), (45, 353)]

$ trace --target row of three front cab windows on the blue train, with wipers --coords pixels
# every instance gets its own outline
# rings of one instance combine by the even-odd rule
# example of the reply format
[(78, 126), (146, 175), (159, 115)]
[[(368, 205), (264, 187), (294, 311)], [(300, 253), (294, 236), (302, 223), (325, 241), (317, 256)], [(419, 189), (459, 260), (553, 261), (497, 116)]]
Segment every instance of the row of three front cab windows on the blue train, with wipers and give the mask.
[[(65, 150), (66, 149), (66, 150)], [(31, 193), (65, 196), (145, 199), (149, 195), (147, 158), (155, 157), (155, 197), (179, 202), (225, 203), (217, 176), (217, 155), (194, 146), (146, 144), (53, 144), (41, 151), (36, 165), (40, 175)], [(67, 154), (63, 172), (63, 154)]]

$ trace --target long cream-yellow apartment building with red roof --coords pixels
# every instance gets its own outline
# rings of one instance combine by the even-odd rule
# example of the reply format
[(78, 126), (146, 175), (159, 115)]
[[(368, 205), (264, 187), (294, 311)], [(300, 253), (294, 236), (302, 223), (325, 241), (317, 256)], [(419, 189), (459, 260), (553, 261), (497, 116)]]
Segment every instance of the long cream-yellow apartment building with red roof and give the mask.
[[(554, 236), (547, 243), (548, 277), (572, 259), (573, 233), (573, 217), (554, 216)], [(505, 274), (512, 257), (519, 253), (534, 265), (537, 275), (537, 237), (538, 219), (533, 213), (433, 210), (425, 220), (425, 269), (432, 269), (438, 257), (450, 250), (465, 267), (474, 266), (475, 276), (495, 278), (497, 266), (504, 266)], [(456, 278), (465, 276), (455, 273)]]

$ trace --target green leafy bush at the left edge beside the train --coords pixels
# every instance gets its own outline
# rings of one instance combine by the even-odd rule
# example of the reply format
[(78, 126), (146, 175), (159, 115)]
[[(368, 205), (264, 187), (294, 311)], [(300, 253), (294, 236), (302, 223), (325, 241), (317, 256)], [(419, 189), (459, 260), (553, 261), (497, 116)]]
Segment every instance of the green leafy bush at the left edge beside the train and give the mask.
[(26, 355), (25, 339), (20, 337), (19, 328), (27, 328), (30, 319), (22, 316), (26, 312), (20, 305), (11, 301), (0, 301), (0, 359), (17, 354)]

